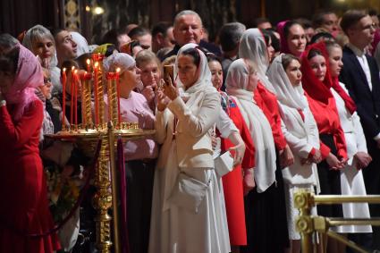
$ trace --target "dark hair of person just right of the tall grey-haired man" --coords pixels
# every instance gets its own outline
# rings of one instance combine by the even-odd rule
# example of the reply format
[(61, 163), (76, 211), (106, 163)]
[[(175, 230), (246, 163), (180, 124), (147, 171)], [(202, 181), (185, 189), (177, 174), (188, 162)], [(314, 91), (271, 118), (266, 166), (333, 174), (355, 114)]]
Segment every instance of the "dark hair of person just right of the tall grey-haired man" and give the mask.
[(239, 46), (241, 35), (245, 30), (245, 25), (240, 22), (226, 23), (219, 30), (219, 41), (224, 52), (232, 51)]

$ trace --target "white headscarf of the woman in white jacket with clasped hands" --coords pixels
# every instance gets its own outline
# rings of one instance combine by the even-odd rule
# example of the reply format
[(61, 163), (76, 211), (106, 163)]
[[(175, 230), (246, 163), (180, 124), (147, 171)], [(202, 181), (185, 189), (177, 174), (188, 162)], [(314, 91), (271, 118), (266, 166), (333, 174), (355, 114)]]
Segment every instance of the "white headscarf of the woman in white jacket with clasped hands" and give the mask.
[(281, 104), (300, 110), (308, 106), (302, 85), (296, 87), (292, 86), (288, 75), (283, 69), (283, 54), (274, 58), (267, 72), (267, 76), (272, 82), (274, 93)]

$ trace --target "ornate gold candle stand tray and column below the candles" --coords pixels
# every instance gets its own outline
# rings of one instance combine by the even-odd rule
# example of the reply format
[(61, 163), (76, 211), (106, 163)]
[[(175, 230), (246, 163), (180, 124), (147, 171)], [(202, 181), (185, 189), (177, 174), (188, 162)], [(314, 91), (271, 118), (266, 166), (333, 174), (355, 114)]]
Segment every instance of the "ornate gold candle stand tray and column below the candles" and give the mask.
[[(96, 174), (94, 185), (97, 193), (93, 198), (93, 206), (97, 210), (97, 249), (99, 252), (111, 252), (114, 245), (114, 252), (120, 252), (119, 243), (119, 185), (116, 180), (115, 166), (115, 140), (146, 139), (155, 133), (154, 130), (140, 130), (137, 123), (123, 122), (114, 129), (113, 122), (99, 125), (91, 129), (82, 129), (80, 126), (72, 126), (70, 130), (63, 130), (56, 134), (46, 135), (48, 138), (75, 141), (80, 143), (80, 147), (89, 151), (94, 150), (94, 145), (98, 139), (102, 139), (99, 157), (97, 158)], [(117, 137), (117, 138), (115, 138)], [(114, 144), (114, 145), (110, 145)], [(90, 149), (90, 150), (89, 150)], [(111, 173), (111, 174), (110, 174)], [(111, 190), (110, 190), (111, 188)], [(109, 208), (113, 210), (113, 217), (108, 215)], [(114, 238), (111, 236), (111, 221), (114, 222)]]

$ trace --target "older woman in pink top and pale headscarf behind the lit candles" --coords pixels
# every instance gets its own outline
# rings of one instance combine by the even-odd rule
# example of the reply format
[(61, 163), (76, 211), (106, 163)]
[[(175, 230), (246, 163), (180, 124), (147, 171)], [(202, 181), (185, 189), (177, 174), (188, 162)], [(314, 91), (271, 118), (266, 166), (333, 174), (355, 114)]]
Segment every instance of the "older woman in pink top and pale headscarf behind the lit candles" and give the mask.
[[(138, 122), (140, 129), (152, 130), (155, 115), (147, 99), (133, 91), (139, 83), (139, 68), (127, 54), (116, 53), (104, 61), (106, 72), (120, 68), (120, 109), (122, 122)], [(153, 178), (158, 147), (153, 139), (129, 140), (124, 146), (127, 180), (127, 225), (131, 252), (147, 252)]]

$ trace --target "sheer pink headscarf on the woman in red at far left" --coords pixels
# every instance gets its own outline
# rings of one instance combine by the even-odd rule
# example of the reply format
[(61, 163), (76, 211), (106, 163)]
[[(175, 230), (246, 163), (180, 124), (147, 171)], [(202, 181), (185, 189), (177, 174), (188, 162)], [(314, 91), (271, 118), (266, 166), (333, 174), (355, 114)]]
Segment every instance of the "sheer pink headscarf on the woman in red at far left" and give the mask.
[(38, 100), (35, 89), (44, 85), (44, 76), (41, 65), (35, 55), (22, 45), (20, 48), (17, 71), (13, 85), (4, 94), (5, 100), (9, 105), (16, 105), (13, 120), (18, 121), (24, 113), (25, 107), (34, 100)]

